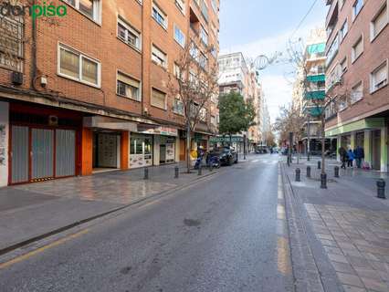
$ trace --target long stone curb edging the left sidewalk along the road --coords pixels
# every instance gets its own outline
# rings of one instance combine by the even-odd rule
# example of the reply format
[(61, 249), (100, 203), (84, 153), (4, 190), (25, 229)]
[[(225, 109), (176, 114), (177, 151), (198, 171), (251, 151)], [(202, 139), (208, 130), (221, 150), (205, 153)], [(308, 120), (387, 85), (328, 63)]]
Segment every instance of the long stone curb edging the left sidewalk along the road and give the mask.
[(201, 183), (203, 180), (205, 180), (207, 178), (210, 178), (210, 177), (213, 177), (213, 176), (216, 176), (217, 174), (220, 174), (220, 173), (221, 172), (208, 172), (208, 173), (205, 173), (201, 177), (196, 178), (194, 181), (186, 183), (184, 185), (179, 185), (179, 186), (173, 187), (172, 189), (163, 191), (162, 193), (154, 193), (154, 194), (152, 194), (150, 196), (147, 196), (145, 198), (142, 198), (142, 199), (137, 200), (137, 201), (132, 202), (132, 203), (125, 204), (125, 205), (123, 205), (121, 207), (112, 209), (110, 211), (107, 211), (107, 212), (104, 212), (104, 213), (101, 213), (101, 214), (93, 215), (91, 217), (79, 220), (79, 221), (74, 222), (72, 224), (68, 224), (68, 225), (60, 227), (58, 229), (54, 229), (52, 231), (49, 231), (49, 232), (47, 232), (47, 233), (45, 233), (43, 235), (37, 235), (37, 236), (31, 237), (29, 239), (26, 239), (26, 240), (24, 240), (22, 242), (16, 243), (14, 245), (9, 245), (9, 246), (7, 246), (5, 248), (0, 249), (0, 256), (8, 254), (8, 253), (10, 253), (12, 251), (15, 251), (16, 249), (18, 249), (20, 247), (23, 247), (23, 246), (26, 246), (26, 245), (30, 245), (32, 243), (35, 243), (35, 242), (39, 241), (39, 240), (45, 239), (45, 238), (47, 238), (49, 236), (58, 235), (59, 233), (62, 233), (62, 232), (67, 231), (67, 230), (69, 230), (71, 228), (77, 227), (77, 226), (79, 226), (81, 224), (86, 224), (86, 223), (89, 223), (90, 221), (99, 219), (99, 218), (104, 217), (106, 215), (119, 212), (119, 211), (121, 211), (123, 209), (131, 207), (134, 204), (142, 203), (142, 202), (144, 202), (146, 200), (150, 200), (150, 199), (153, 199), (153, 198), (156, 198), (156, 197), (163, 197), (163, 196), (171, 194), (171, 193), (179, 192), (179, 191), (183, 190), (184, 188), (192, 187), (196, 183)]

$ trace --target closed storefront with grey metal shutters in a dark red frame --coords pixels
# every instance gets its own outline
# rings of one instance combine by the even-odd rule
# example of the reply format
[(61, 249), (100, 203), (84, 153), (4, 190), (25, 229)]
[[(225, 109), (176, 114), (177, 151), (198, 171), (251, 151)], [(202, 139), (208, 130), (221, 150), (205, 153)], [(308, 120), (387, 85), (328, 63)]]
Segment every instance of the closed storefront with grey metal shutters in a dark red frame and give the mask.
[(78, 174), (82, 117), (77, 112), (11, 104), (9, 120), (9, 184)]

